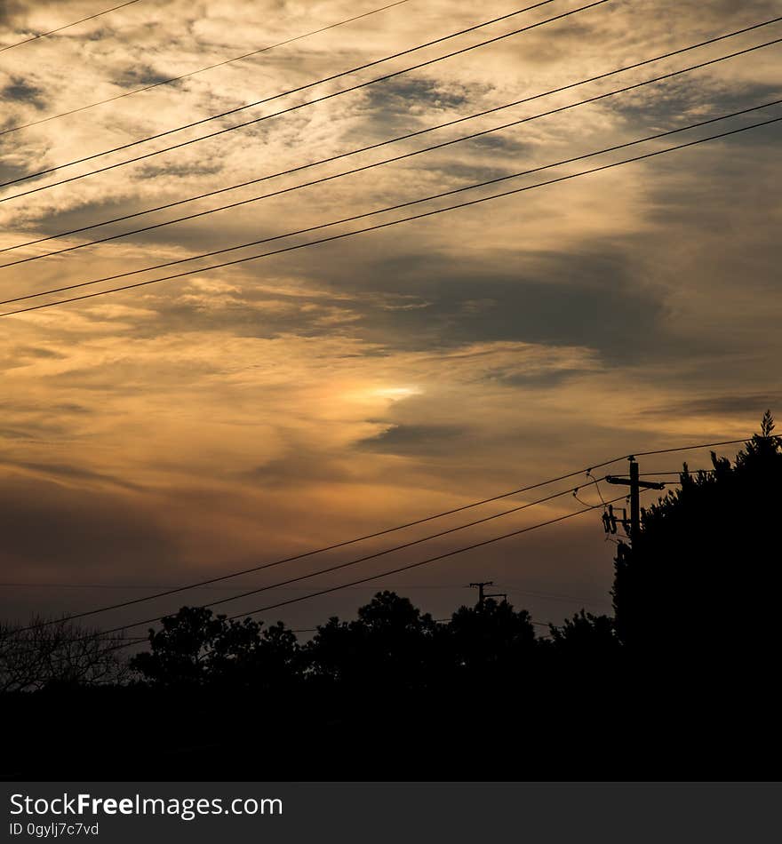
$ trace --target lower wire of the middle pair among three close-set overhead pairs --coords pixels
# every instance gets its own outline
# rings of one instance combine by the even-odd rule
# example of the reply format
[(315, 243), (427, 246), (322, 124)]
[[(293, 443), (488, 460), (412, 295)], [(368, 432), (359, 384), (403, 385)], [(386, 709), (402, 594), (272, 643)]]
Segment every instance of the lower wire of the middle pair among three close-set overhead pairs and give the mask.
[[(126, 231), (126, 232), (120, 232), (119, 234), (116, 234), (116, 235), (108, 235), (106, 237), (101, 237), (101, 238), (98, 238), (96, 240), (87, 241), (86, 243), (77, 243), (74, 246), (66, 246), (66, 247), (63, 247), (63, 248), (58, 249), (58, 250), (53, 250), (51, 252), (44, 252), (43, 254), (40, 254), (40, 255), (33, 255), (33, 256), (28, 257), (28, 258), (21, 258), (21, 259), (9, 261), (5, 264), (0, 264), (0, 269), (3, 269), (4, 267), (16, 267), (19, 264), (27, 264), (30, 261), (36, 261), (36, 260), (41, 260), (41, 259), (45, 259), (45, 258), (52, 258), (55, 255), (62, 255), (66, 252), (72, 252), (72, 251), (84, 249), (85, 247), (95, 246), (99, 243), (108, 243), (110, 241), (118, 240), (119, 238), (122, 238), (122, 237), (129, 237), (131, 235), (139, 235), (142, 232), (148, 232), (148, 231), (152, 231), (152, 230), (157, 229), (157, 228), (172, 226), (172, 225), (175, 225), (176, 223), (185, 222), (185, 221), (190, 220), (190, 219), (198, 219), (198, 218), (201, 218), (201, 217), (206, 217), (206, 216), (208, 216), (210, 214), (214, 214), (218, 211), (227, 211), (227, 210), (232, 209), (232, 208), (238, 208), (242, 205), (247, 205), (247, 204), (250, 204), (250, 203), (259, 202), (259, 201), (264, 200), (264, 199), (269, 199), (273, 196), (288, 194), (288, 193), (291, 193), (292, 191), (300, 190), (304, 187), (312, 187), (314, 185), (320, 185), (320, 184), (323, 184), (324, 182), (332, 181), (333, 179), (341, 179), (345, 176), (354, 175), (355, 173), (373, 170), (375, 167), (381, 167), (385, 164), (403, 161), (405, 159), (412, 158), (415, 155), (421, 155), (423, 153), (432, 152), (433, 150), (436, 150), (436, 149), (443, 149), (444, 147), (450, 147), (453, 144), (458, 144), (458, 143), (461, 143), (461, 142), (466, 141), (466, 140), (473, 140), (475, 138), (481, 138), (481, 137), (483, 137), (483, 135), (488, 135), (488, 134), (491, 134), (492, 132), (504, 131), (504, 130), (509, 129), (513, 126), (518, 126), (518, 125), (521, 125), (523, 123), (530, 123), (531, 121), (538, 120), (541, 117), (548, 117), (550, 115), (560, 114), (564, 111), (569, 111), (571, 108), (577, 108), (579, 106), (585, 106), (585, 105), (588, 105), (590, 103), (598, 102), (600, 100), (605, 100), (609, 97), (616, 96), (617, 94), (625, 93), (625, 92), (628, 92), (628, 91), (633, 91), (634, 89), (637, 89), (637, 88), (642, 88), (644, 85), (649, 85), (649, 84), (660, 82), (662, 80), (670, 79), (673, 76), (680, 76), (681, 74), (688, 73), (691, 70), (695, 70), (695, 69), (698, 69), (698, 68), (704, 68), (708, 65), (713, 65), (713, 64), (715, 64), (719, 61), (724, 61), (726, 59), (733, 59), (737, 56), (744, 55), (748, 52), (754, 52), (755, 50), (760, 50), (763, 47), (768, 47), (772, 44), (779, 44), (780, 42), (782, 42), (782, 38), (776, 38), (773, 41), (766, 42), (765, 44), (756, 44), (753, 47), (748, 47), (745, 50), (740, 50), (738, 52), (730, 53), (727, 56), (720, 56), (717, 59), (712, 59), (712, 60), (708, 60), (708, 61), (705, 61), (705, 62), (701, 62), (700, 64), (697, 64), (697, 65), (692, 65), (689, 68), (682, 68), (681, 70), (674, 70), (673, 72), (666, 73), (662, 76), (655, 76), (651, 79), (645, 79), (642, 82), (634, 83), (634, 84), (631, 84), (631, 85), (626, 85), (625, 87), (618, 88), (614, 91), (609, 91), (609, 92), (604, 92), (602, 94), (597, 94), (596, 96), (589, 97), (586, 100), (579, 100), (578, 102), (570, 103), (566, 106), (560, 106), (560, 107), (557, 107), (557, 108), (552, 108), (548, 111), (539, 112), (539, 114), (537, 114), (537, 115), (528, 115), (528, 116), (525, 116), (525, 117), (521, 117), (518, 120), (511, 121), (510, 123), (503, 123), (502, 125), (499, 125), (499, 126), (493, 126), (493, 127), (491, 127), (491, 129), (483, 129), (481, 131), (475, 131), (475, 132), (472, 132), (471, 134), (463, 135), (460, 138), (445, 140), (445, 141), (443, 141), (439, 144), (435, 144), (431, 147), (423, 147), (421, 149), (413, 150), (412, 152), (403, 153), (402, 155), (395, 155), (391, 158), (386, 158), (383, 161), (373, 162), (373, 163), (369, 163), (369, 164), (363, 164), (362, 166), (356, 167), (353, 170), (343, 171), (341, 173), (334, 173), (330, 176), (323, 176), (320, 179), (313, 179), (312, 181), (303, 182), (299, 185), (294, 185), (292, 187), (283, 187), (283, 188), (280, 188), (278, 190), (271, 191), (270, 193), (263, 194), (263, 195), (260, 195), (260, 196), (252, 196), (249, 199), (239, 200), (235, 203), (228, 203), (227, 205), (219, 205), (217, 208), (211, 208), (211, 209), (208, 209), (206, 211), (196, 211), (195, 213), (188, 214), (184, 217), (178, 217), (178, 218), (175, 218), (175, 219), (165, 220), (164, 222), (161, 222), (161, 223), (154, 223), (154, 224), (151, 224), (149, 226), (132, 229), (132, 230)], [(515, 105), (515, 103), (512, 104), (512, 105)], [(500, 108), (507, 108), (507, 107), (508, 106), (498, 107), (495, 110), (499, 111)], [(730, 115), (730, 116), (734, 116), (734, 115)], [(461, 119), (470, 119), (470, 118), (461, 118)], [(719, 119), (724, 119), (724, 118), (719, 118)], [(437, 127), (437, 128), (439, 128), (439, 127)], [(431, 131), (431, 130), (425, 130), (425, 131)], [(676, 131), (681, 131), (681, 130), (676, 130)], [(391, 143), (391, 142), (393, 142), (393, 141), (386, 141), (385, 143)], [(361, 151), (363, 151), (363, 150), (361, 150)], [(347, 153), (345, 155), (353, 155), (353, 153)], [(312, 166), (312, 165), (304, 165), (304, 166), (308, 167), (308, 166)], [(555, 166), (555, 165), (551, 165), (551, 166)], [(298, 169), (303, 169), (303, 168), (294, 168), (294, 170), (298, 170)], [(291, 172), (291, 171), (287, 171), (287, 172)], [(285, 175), (285, 174), (286, 173), (277, 173), (277, 174), (274, 174), (274, 175), (276, 176), (276, 175)], [(273, 176), (265, 176), (265, 177), (262, 177), (261, 179), (255, 179), (255, 181), (263, 181), (263, 180), (272, 179), (272, 178), (274, 178), (274, 177)], [(244, 187), (244, 185), (240, 186), (240, 187)], [(233, 188), (222, 188), (222, 191), (231, 190), (231, 189), (233, 189)], [(200, 196), (200, 197), (197, 197), (197, 198), (199, 198), (199, 199), (203, 198), (203, 195)], [(181, 202), (189, 202), (189, 201), (190, 200), (181, 200), (180, 203)], [(146, 213), (146, 212), (141, 211), (139, 213)], [(138, 215), (133, 215), (133, 216), (138, 216)], [(96, 224), (96, 225), (104, 225), (104, 224)], [(52, 235), (52, 237), (58, 237), (58, 236), (63, 236), (63, 235)], [(277, 236), (281, 237), (281, 236), (285, 236), (285, 235), (277, 235)], [(52, 239), (52, 237), (42, 238), (41, 240), (44, 240), (44, 239), (50, 240), (50, 239)], [(33, 243), (40, 243), (40, 241), (34, 241)], [(256, 245), (257, 243), (259, 243), (259, 242), (255, 242), (251, 245)], [(29, 244), (22, 244), (22, 245), (29, 245)], [(8, 251), (10, 249), (19, 249), (19, 248), (20, 248), (19, 246), (7, 247), (5, 250), (0, 250), (0, 251)], [(168, 266), (168, 265), (165, 265), (165, 266)]]

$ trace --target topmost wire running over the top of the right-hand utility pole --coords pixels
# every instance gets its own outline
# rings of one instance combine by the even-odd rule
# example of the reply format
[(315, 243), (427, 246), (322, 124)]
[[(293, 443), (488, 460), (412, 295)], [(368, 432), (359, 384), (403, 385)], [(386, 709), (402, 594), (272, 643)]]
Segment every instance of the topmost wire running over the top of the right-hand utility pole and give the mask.
[[(636, 451), (634, 453), (636, 455), (641, 455), (641, 454), (644, 454), (644, 455), (668, 454), (668, 453), (672, 453), (674, 451), (706, 449), (706, 448), (716, 447), (716, 446), (719, 446), (719, 445), (735, 445), (739, 442), (741, 442), (741, 443), (746, 442), (746, 438), (742, 439), (742, 440), (723, 440), (722, 442), (704, 442), (704, 443), (699, 443), (698, 445), (688, 445), (688, 446), (682, 446), (680, 448), (664, 449), (664, 450), (658, 450), (658, 451), (645, 451), (645, 452)], [(595, 463), (592, 466), (588, 466), (588, 467), (582, 468), (582, 469), (576, 469), (573, 472), (570, 472), (568, 474), (559, 475), (559, 477), (549, 478), (547, 481), (540, 481), (540, 482), (532, 483), (532, 484), (529, 484), (529, 485), (522, 487), (518, 490), (511, 490), (510, 492), (503, 492), (499, 495), (492, 496), (491, 498), (483, 498), (480, 501), (475, 501), (471, 504), (467, 504), (467, 505), (460, 506), (460, 507), (454, 507), (451, 510), (445, 510), (442, 513), (426, 516), (426, 517), (424, 517), (422, 519), (418, 519), (416, 521), (405, 522), (403, 524), (396, 525), (393, 528), (378, 530), (375, 533), (366, 534), (363, 537), (355, 537), (354, 539), (347, 539), (347, 540), (342, 541), (342, 542), (334, 543), (333, 545), (326, 545), (322, 548), (318, 548), (318, 549), (315, 549), (313, 551), (307, 551), (305, 553), (296, 554), (295, 556), (285, 557), (282, 560), (264, 563), (263, 565), (255, 566), (251, 569), (242, 569), (240, 571), (231, 572), (227, 575), (221, 575), (219, 577), (211, 577), (210, 579), (207, 579), (207, 580), (198, 581), (196, 583), (189, 584), (189, 585), (178, 586), (178, 587), (173, 588), (173, 589), (168, 589), (164, 592), (159, 592), (159, 593), (155, 593), (155, 594), (151, 594), (151, 595), (145, 595), (144, 597), (136, 598), (132, 601), (123, 601), (121, 603), (111, 604), (111, 605), (106, 606), (106, 607), (100, 607), (98, 609), (91, 609), (91, 610), (87, 610), (85, 612), (75, 613), (75, 614), (70, 615), (70, 616), (65, 616), (65, 617), (58, 618), (58, 619), (52, 619), (51, 621), (43, 622), (41, 624), (28, 625), (27, 627), (20, 628), (20, 631), (17, 631), (17, 632), (22, 632), (22, 631), (25, 631), (25, 630), (33, 630), (33, 629), (36, 629), (37, 627), (46, 627), (46, 626), (53, 625), (53, 624), (59, 624), (59, 623), (64, 622), (64, 621), (73, 621), (76, 618), (84, 618), (84, 617), (87, 617), (87, 616), (97, 615), (100, 612), (108, 612), (109, 610), (113, 610), (113, 609), (124, 609), (125, 607), (130, 607), (134, 604), (138, 604), (138, 603), (141, 603), (143, 601), (152, 601), (156, 598), (164, 598), (168, 595), (172, 595), (172, 594), (176, 594), (176, 593), (180, 593), (180, 592), (186, 592), (189, 589), (195, 589), (198, 586), (205, 586), (205, 585), (211, 585), (211, 584), (219, 583), (221, 581), (228, 580), (232, 577), (239, 577), (240, 575), (251, 574), (251, 572), (254, 572), (254, 571), (260, 571), (262, 569), (268, 569), (268, 568), (272, 568), (273, 566), (282, 565), (285, 562), (302, 560), (305, 557), (313, 556), (317, 553), (332, 551), (332, 550), (335, 550), (335, 549), (338, 549), (338, 548), (343, 548), (347, 545), (355, 545), (356, 543), (363, 542), (364, 540), (367, 540), (367, 539), (373, 539), (373, 538), (376, 538), (376, 537), (385, 536), (389, 533), (394, 533), (397, 530), (403, 530), (403, 529), (411, 528), (411, 527), (414, 527), (416, 525), (423, 524), (425, 522), (432, 522), (435, 519), (442, 518), (443, 516), (461, 513), (465, 510), (472, 509), (473, 507), (476, 507), (476, 506), (482, 506), (484, 504), (489, 504), (493, 501), (499, 501), (502, 498), (508, 498), (510, 496), (518, 495), (518, 494), (521, 494), (523, 492), (530, 492), (531, 490), (538, 490), (541, 487), (549, 486), (552, 483), (567, 481), (570, 478), (574, 478), (574, 477), (578, 476), (579, 474), (585, 474), (585, 473), (588, 474), (588, 473), (591, 473), (592, 471), (594, 471), (594, 469), (602, 469), (605, 466), (611, 466), (614, 463), (618, 463), (619, 460), (624, 460), (628, 457), (629, 457), (629, 455), (622, 455), (622, 456), (617, 457), (617, 458), (610, 458), (610, 460), (604, 460), (604, 461), (602, 461), (602, 463)], [(569, 491), (571, 491), (571, 490), (565, 490), (565, 492), (569, 492)], [(623, 498), (623, 497), (620, 496), (619, 498)], [(619, 500), (619, 498), (617, 498), (616, 500)], [(609, 502), (605, 502), (605, 503), (608, 504)], [(121, 628), (121, 629), (124, 629), (124, 628)]]

